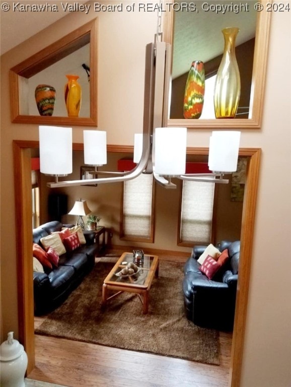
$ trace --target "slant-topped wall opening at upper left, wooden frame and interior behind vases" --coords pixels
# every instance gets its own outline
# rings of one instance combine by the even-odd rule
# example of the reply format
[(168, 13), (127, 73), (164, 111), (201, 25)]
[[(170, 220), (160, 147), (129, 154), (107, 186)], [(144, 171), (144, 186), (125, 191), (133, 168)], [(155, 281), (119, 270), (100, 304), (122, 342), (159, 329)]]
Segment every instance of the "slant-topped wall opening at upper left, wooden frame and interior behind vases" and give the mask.
[[(17, 64), (10, 70), (11, 121), (17, 123), (34, 123), (49, 125), (86, 125), (97, 126), (97, 18), (72, 31), (41, 51)], [(78, 58), (78, 64), (72, 65), (72, 58)], [(63, 61), (63, 62), (62, 62)], [(78, 68), (78, 75), (84, 78), (82, 88), (82, 107), (79, 117), (68, 117), (64, 102), (64, 85), (66, 78), (59, 75), (56, 66)], [(90, 79), (82, 67), (85, 63), (90, 68)], [(72, 70), (72, 71), (74, 71)], [(76, 70), (75, 70), (76, 71)], [(43, 74), (43, 76), (41, 76)], [(59, 76), (60, 78), (57, 78)], [(56, 102), (62, 105), (52, 116), (38, 114), (34, 100), (34, 89), (37, 83), (46, 84), (52, 79), (53, 85), (59, 87)], [(42, 81), (42, 82), (41, 82)], [(55, 87), (56, 88), (56, 87)], [(86, 106), (87, 102), (87, 106)]]

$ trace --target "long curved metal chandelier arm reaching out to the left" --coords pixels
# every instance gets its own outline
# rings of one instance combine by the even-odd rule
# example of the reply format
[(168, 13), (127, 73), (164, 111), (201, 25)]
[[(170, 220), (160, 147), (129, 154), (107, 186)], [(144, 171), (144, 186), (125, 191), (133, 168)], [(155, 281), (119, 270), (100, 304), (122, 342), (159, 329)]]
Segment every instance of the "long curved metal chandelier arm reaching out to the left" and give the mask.
[[(55, 181), (47, 183), (50, 188), (69, 187), (87, 184), (114, 183), (131, 180), (139, 176), (146, 168), (151, 154), (151, 135), (153, 133), (153, 106), (155, 92), (155, 51), (154, 44), (149, 43), (145, 48), (145, 74), (144, 74), (144, 108), (143, 108), (143, 141), (142, 154), (138, 164), (128, 172), (121, 172), (120, 176), (98, 177), (86, 180)], [(110, 173), (110, 172), (109, 172)], [(117, 172), (118, 173), (118, 172)]]

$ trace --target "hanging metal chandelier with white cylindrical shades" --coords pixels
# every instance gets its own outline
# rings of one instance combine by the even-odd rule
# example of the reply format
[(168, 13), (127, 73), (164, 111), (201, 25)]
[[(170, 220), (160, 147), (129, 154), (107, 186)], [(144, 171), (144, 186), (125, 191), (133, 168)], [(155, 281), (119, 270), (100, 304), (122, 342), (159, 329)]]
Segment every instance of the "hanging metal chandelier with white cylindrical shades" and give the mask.
[[(166, 127), (170, 83), (170, 44), (149, 43), (145, 50), (143, 131), (134, 137), (136, 166), (127, 172), (98, 171), (104, 177), (59, 181), (72, 173), (72, 128), (39, 126), (40, 171), (55, 176), (47, 185), (68, 187), (103, 184), (134, 179), (141, 173), (153, 173), (165, 188), (176, 188), (172, 178), (211, 183), (228, 183), (225, 173), (237, 170), (240, 132), (213, 131), (209, 140), (208, 168), (212, 173), (186, 174), (186, 127)], [(106, 132), (84, 131), (84, 160), (97, 174), (107, 163)]]

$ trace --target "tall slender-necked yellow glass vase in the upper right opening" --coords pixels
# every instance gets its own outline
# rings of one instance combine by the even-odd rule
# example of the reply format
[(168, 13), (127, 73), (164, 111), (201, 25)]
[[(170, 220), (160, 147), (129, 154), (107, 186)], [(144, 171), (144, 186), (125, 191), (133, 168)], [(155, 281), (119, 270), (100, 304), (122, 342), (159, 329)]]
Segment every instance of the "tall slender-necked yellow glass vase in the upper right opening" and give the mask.
[(241, 79), (235, 53), (238, 32), (237, 27), (228, 27), (222, 30), (225, 47), (214, 88), (216, 118), (234, 118), (237, 113), (241, 95)]

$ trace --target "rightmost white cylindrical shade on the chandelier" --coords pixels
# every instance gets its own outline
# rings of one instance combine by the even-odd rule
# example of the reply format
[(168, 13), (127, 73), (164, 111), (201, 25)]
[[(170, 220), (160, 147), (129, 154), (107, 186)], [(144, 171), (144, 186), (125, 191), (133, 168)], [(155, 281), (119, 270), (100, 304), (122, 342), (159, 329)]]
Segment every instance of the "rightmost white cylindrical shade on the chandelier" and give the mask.
[(215, 172), (235, 172), (238, 165), (241, 132), (212, 132), (208, 167)]

